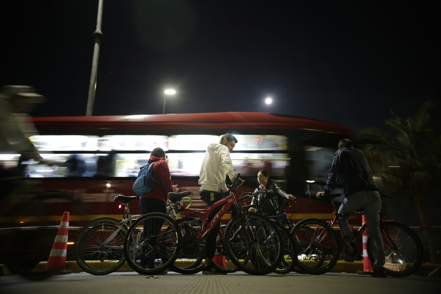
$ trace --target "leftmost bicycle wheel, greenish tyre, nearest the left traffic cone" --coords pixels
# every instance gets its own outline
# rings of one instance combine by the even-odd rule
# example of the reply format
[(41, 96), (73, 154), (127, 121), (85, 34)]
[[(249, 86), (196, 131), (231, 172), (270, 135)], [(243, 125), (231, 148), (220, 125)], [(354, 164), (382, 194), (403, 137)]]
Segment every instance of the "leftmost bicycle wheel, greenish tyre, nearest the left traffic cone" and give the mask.
[(104, 275), (118, 270), (125, 262), (125, 226), (101, 224), (88, 228), (75, 245), (76, 263), (84, 271)]

